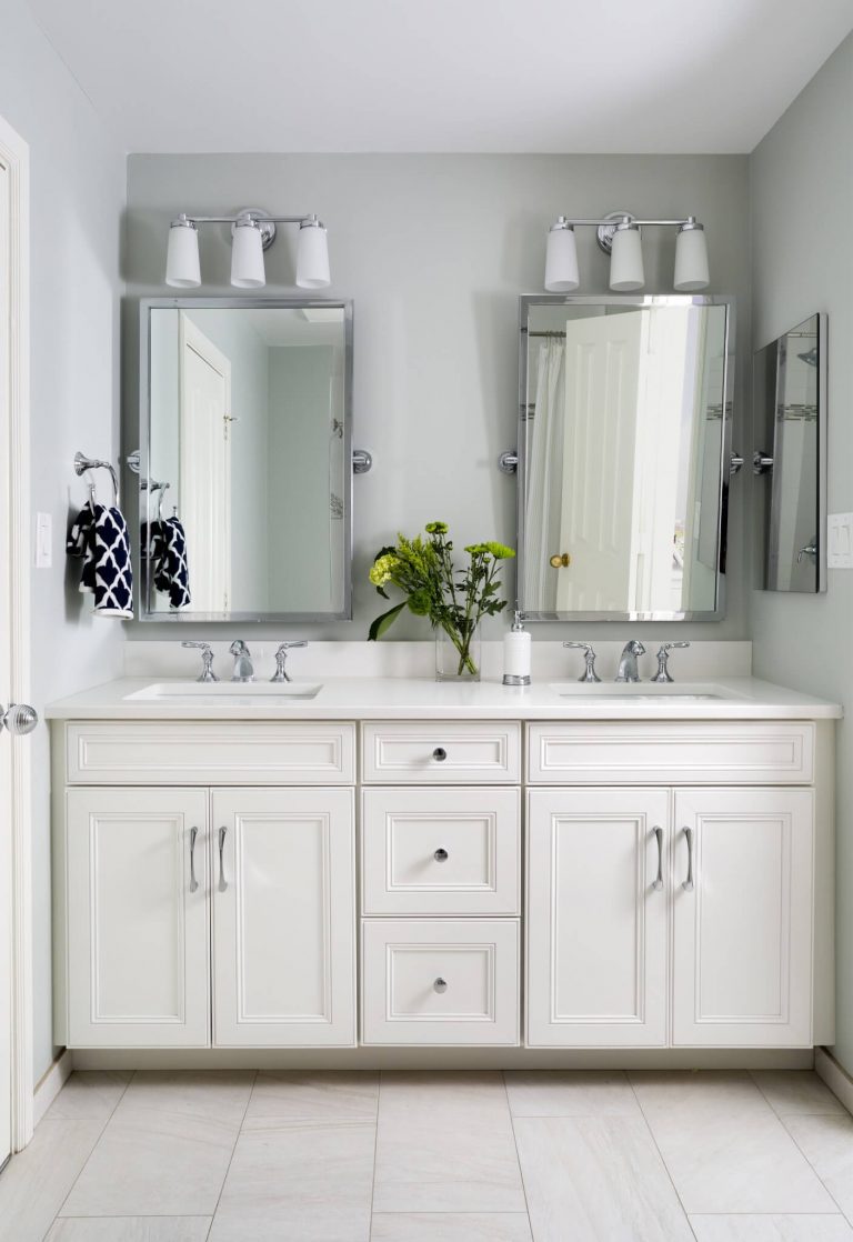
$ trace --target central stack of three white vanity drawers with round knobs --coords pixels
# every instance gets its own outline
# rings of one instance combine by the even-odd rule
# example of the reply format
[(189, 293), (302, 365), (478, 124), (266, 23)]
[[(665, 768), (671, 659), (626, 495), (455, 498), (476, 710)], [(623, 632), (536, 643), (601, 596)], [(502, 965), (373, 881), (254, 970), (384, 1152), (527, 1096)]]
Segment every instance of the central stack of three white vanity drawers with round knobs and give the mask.
[(517, 1045), (521, 729), (364, 724), (361, 1037)]

